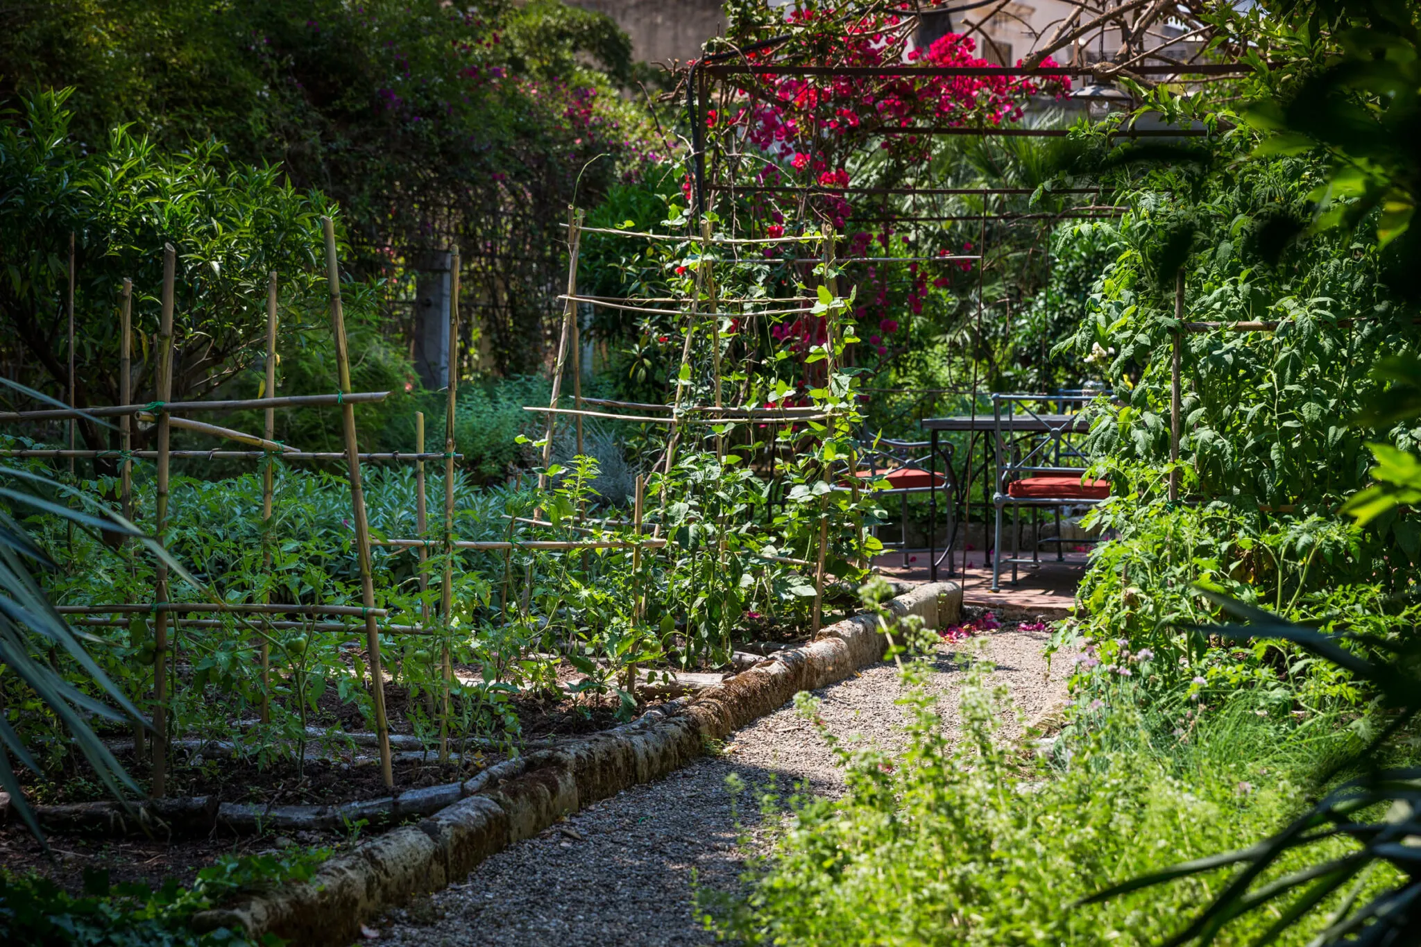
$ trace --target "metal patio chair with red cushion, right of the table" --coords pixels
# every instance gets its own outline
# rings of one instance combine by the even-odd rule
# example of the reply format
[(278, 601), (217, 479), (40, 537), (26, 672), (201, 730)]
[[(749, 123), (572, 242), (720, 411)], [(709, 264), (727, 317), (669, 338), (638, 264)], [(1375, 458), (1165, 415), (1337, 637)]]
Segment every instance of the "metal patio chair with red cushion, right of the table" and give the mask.
[[(996, 531), (992, 545), (992, 591), (1002, 591), (1002, 565), (1012, 564), (1012, 582), (1017, 581), (1017, 566), (1023, 562), (1040, 562), (1040, 520), (1036, 518), (1036, 535), (1032, 544), (1032, 558), (1022, 558), (1022, 507), (1033, 510), (1033, 517), (1043, 508), (1056, 511), (1057, 561), (1064, 559), (1060, 530), (1060, 511), (1067, 507), (1094, 505), (1110, 496), (1110, 484), (1104, 480), (1084, 480), (1084, 457), (1070, 437), (1086, 433), (1079, 412), (1060, 410), (1046, 413), (1033, 405), (1054, 405), (1057, 409), (1080, 406), (1094, 398), (1090, 395), (992, 395), (992, 420), (996, 437), (996, 484), (992, 503), (996, 507)], [(1069, 461), (1080, 461), (1070, 466)], [(1012, 507), (1012, 555), (1002, 555), (1002, 520), (1006, 507)], [(1096, 542), (1081, 540), (1080, 542)]]

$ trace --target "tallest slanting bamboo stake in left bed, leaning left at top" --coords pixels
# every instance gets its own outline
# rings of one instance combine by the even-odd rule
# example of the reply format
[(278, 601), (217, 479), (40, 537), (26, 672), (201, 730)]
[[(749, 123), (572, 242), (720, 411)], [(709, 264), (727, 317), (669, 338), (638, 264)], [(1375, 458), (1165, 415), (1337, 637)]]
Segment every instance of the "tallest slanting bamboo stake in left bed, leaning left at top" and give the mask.
[[(351, 359), (345, 346), (345, 314), (341, 311), (341, 270), (335, 258), (335, 224), (321, 217), (325, 233), (325, 274), (331, 292), (331, 334), (335, 336), (335, 368), (342, 395), (351, 393)], [(355, 406), (341, 405), (341, 426), (345, 432), (345, 463), (350, 469), (351, 507), (355, 515), (355, 547), (360, 562), (361, 602), (375, 608), (375, 582), (371, 576), (369, 522), (365, 520), (365, 491), (360, 480), (360, 446), (355, 437)], [(375, 616), (365, 615), (365, 649), (369, 663), (371, 697), (375, 704), (375, 738), (379, 741), (379, 768), (387, 788), (394, 788), (395, 772), (389, 760), (389, 720), (385, 716), (385, 672), (379, 660), (379, 628)]]

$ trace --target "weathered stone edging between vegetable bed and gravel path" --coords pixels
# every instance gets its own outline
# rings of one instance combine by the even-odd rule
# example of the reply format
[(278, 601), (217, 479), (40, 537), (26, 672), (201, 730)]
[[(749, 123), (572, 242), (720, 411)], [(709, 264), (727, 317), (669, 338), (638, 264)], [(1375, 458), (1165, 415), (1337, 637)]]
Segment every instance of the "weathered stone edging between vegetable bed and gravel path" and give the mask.
[[(956, 582), (921, 585), (888, 608), (898, 618), (918, 615), (929, 628), (941, 628), (958, 619), (962, 589)], [(570, 812), (679, 770), (703, 752), (706, 740), (723, 740), (800, 690), (845, 680), (878, 662), (885, 647), (872, 615), (830, 625), (817, 640), (776, 652), (631, 724), (492, 767), (480, 774), (489, 778), (477, 794), (327, 860), (310, 882), (202, 912), (193, 926), (229, 927), (252, 938), (270, 931), (303, 947), (350, 944), (362, 923), (389, 907), (462, 879), (483, 859)]]

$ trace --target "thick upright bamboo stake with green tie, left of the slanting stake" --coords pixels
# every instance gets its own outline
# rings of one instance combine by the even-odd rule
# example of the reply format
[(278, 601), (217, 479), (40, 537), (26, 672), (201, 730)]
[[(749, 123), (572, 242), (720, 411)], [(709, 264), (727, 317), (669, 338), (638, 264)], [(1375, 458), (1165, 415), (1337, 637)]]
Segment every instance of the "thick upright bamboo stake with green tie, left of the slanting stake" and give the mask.
[[(178, 274), (178, 251), (163, 244), (162, 311), (158, 321), (158, 376), (155, 396), (158, 407), (158, 510), (153, 517), (153, 540), (163, 544), (168, 525), (168, 412), (162, 402), (173, 395), (173, 283)], [(168, 601), (168, 564), (158, 559), (153, 571), (153, 602)], [(152, 795), (168, 792), (168, 612), (153, 615), (153, 754)]]

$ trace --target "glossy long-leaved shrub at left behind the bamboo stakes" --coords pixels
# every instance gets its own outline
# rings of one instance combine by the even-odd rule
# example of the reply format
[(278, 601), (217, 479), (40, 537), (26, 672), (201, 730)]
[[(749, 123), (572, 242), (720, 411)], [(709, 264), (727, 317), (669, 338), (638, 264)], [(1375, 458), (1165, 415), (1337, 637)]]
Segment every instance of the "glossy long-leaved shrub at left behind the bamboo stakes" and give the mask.
[[(324, 312), (324, 294), (311, 295), (318, 217), (333, 213), (324, 197), (297, 192), (276, 168), (232, 160), (213, 141), (163, 152), (118, 126), (85, 143), (71, 133), (70, 98), (40, 92), (0, 122), (0, 325), (6, 348), (37, 369), (17, 381), (61, 393), (67, 383), (71, 234), (78, 406), (129, 403), (151, 390), (165, 243), (178, 250), (175, 399), (210, 392), (240, 368), (264, 331), (269, 271), (284, 274), (286, 310)], [(134, 280), (134, 392), (118, 390), (125, 277)], [(81, 427), (90, 446), (109, 446), (92, 425)]]

